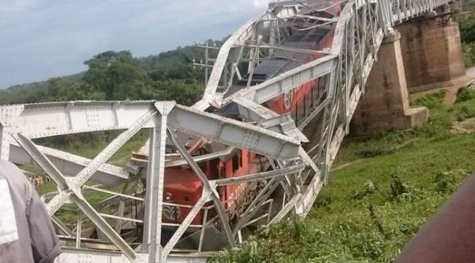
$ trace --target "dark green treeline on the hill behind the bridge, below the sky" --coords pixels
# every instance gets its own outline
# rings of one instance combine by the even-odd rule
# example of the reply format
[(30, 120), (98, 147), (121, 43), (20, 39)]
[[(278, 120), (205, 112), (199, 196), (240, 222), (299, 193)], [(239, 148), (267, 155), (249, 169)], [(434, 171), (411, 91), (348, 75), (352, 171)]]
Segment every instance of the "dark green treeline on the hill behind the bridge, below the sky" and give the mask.
[(102, 52), (84, 62), (88, 69), (81, 74), (1, 90), (0, 105), (69, 100), (176, 100), (192, 105), (204, 91), (202, 69), (193, 66), (193, 59), (202, 58), (204, 49), (191, 46), (143, 58), (129, 51)]

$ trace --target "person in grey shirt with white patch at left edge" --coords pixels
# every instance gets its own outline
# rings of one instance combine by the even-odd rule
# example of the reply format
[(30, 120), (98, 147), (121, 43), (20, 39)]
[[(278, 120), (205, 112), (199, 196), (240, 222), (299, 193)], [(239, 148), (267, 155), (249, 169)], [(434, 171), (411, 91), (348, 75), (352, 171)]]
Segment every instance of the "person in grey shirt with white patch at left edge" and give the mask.
[(0, 263), (52, 263), (61, 254), (45, 205), (13, 163), (0, 160)]

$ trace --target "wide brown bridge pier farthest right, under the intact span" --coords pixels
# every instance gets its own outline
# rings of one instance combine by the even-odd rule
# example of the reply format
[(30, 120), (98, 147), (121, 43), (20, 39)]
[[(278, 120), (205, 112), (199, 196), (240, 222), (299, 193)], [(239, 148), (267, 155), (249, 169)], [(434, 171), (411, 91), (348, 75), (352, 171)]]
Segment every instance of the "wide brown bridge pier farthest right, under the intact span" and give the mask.
[[(448, 6), (445, 9), (450, 10)], [(465, 76), (459, 25), (449, 16), (416, 19), (397, 30), (409, 92), (451, 86), (455, 79)]]

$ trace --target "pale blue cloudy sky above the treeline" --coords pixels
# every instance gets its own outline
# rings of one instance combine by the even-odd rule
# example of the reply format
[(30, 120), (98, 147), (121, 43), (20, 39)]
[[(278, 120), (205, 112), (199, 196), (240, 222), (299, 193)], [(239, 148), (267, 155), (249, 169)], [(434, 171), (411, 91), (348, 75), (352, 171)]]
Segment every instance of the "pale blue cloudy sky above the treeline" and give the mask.
[(221, 39), (271, 0), (0, 0), (0, 89), (76, 74), (107, 50), (146, 57)]

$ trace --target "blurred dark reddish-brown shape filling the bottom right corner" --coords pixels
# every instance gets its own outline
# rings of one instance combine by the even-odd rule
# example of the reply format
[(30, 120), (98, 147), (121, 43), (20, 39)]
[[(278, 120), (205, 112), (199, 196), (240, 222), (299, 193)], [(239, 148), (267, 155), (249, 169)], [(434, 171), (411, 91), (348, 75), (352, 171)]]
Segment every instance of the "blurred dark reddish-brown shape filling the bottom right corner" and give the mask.
[(396, 262), (475, 262), (475, 174), (409, 242)]

